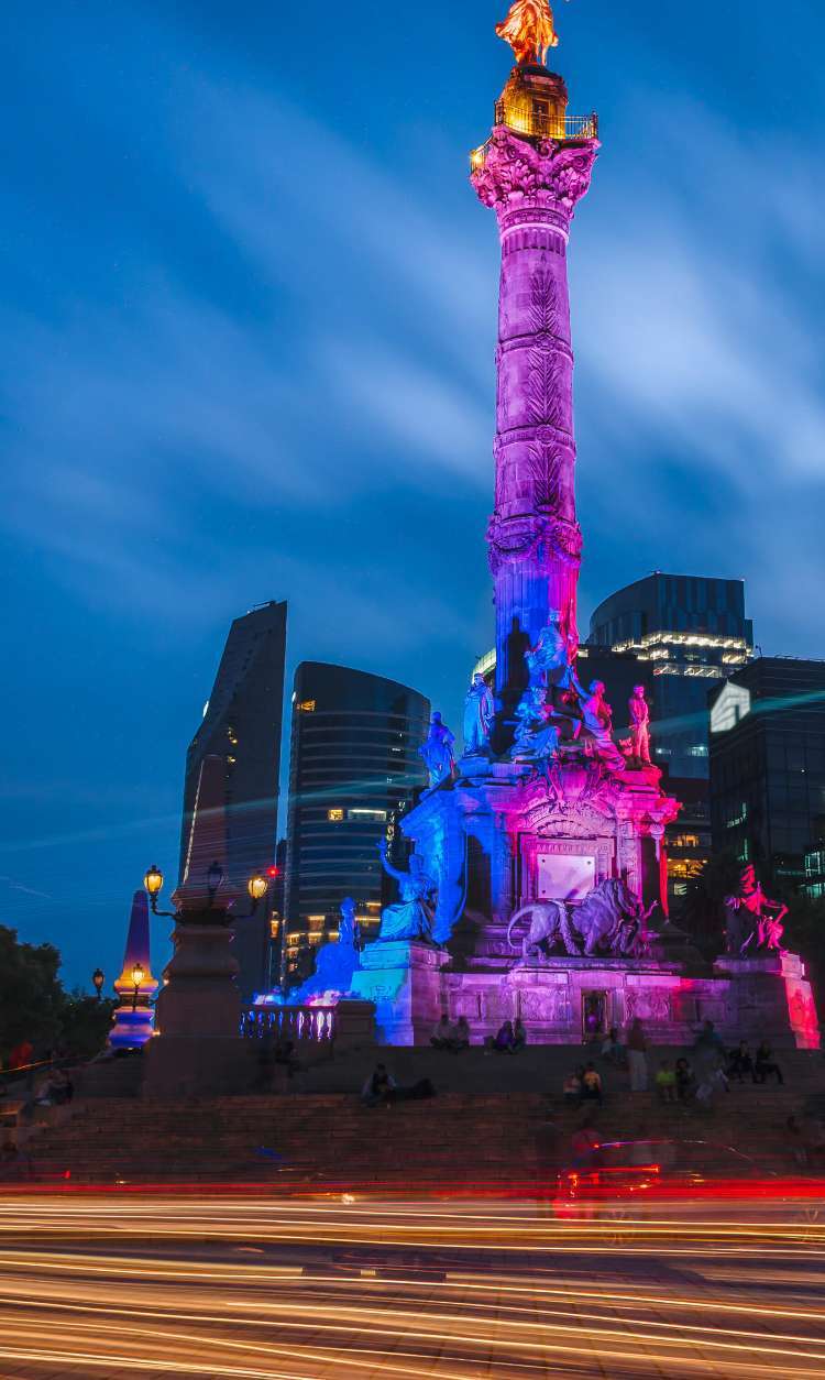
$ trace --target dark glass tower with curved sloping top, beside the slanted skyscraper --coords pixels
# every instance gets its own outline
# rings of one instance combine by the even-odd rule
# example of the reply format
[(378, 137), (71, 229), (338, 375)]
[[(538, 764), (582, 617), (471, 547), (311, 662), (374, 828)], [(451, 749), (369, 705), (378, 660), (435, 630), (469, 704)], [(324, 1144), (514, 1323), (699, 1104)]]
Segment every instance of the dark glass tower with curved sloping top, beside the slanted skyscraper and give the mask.
[(429, 701), (408, 686), (348, 667), (304, 661), (295, 672), (287, 827), (283, 973), (310, 967), (310, 951), (338, 930), (338, 907), (356, 903), (364, 936), (378, 927), (378, 840), (426, 784), (418, 748)]

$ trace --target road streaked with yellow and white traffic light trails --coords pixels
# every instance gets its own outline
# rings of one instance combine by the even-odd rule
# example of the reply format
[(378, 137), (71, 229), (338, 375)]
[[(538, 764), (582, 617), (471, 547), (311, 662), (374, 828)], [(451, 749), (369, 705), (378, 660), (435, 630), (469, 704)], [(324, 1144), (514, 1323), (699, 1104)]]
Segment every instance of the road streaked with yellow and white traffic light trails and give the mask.
[(0, 1377), (825, 1374), (825, 1205), (0, 1199)]

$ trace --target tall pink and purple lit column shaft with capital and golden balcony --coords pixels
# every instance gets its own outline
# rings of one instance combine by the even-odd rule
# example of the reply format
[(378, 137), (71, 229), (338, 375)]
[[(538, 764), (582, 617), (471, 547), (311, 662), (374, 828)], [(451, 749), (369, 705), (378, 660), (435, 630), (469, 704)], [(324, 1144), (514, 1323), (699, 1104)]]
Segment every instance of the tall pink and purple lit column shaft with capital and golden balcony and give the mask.
[[(582, 538), (575, 518), (567, 243), (600, 145), (590, 137), (595, 121), (567, 120), (566, 106), (560, 77), (517, 66), (497, 105), (499, 123), (472, 156), (473, 186), (495, 210), (501, 235), (495, 511), (487, 544), (505, 719), (527, 682), (524, 650), (550, 610), (559, 610), (563, 632), (577, 640)], [(550, 115), (534, 119), (537, 109)], [(530, 128), (559, 137), (520, 132)]]

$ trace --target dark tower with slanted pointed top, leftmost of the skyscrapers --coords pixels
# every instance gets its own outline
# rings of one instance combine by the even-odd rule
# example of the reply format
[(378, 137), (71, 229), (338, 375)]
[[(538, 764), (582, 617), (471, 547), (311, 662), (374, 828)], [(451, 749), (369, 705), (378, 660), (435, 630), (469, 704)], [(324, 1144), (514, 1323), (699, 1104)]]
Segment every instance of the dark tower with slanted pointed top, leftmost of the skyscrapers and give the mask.
[[(266, 603), (229, 629), (203, 723), (186, 755), (181, 878), (190, 843), (200, 763), (221, 756), (226, 765), (228, 879), (237, 894), (236, 909), (250, 908), (247, 880), (275, 865), (277, 782), (284, 697), (287, 640), (286, 603)], [(270, 905), (239, 920), (235, 956), (240, 965), (241, 996), (251, 1000), (269, 980)]]

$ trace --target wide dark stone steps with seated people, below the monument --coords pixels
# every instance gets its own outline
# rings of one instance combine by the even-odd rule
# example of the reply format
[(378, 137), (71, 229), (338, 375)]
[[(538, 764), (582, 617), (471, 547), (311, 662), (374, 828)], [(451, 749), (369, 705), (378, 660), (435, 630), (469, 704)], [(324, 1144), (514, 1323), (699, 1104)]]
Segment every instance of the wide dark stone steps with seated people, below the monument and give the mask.
[[(363, 1107), (357, 1089), (375, 1063), (371, 1050), (299, 1074), (283, 1094), (188, 1103), (90, 1098), (68, 1123), (37, 1137), (26, 1169), (40, 1183), (392, 1191), (412, 1184), (417, 1191), (504, 1192), (530, 1191), (567, 1159), (582, 1114), (561, 1105), (559, 1087), (571, 1064), (582, 1061), (581, 1049), (533, 1049), (517, 1058), (480, 1050), (378, 1054), (400, 1082), (430, 1078), (439, 1096)], [(657, 1050), (659, 1057), (666, 1052)], [(793, 1173), (785, 1121), (822, 1094), (825, 1061), (784, 1052), (781, 1063), (785, 1086), (734, 1083), (709, 1111), (630, 1096), (625, 1074), (603, 1071), (599, 1132), (604, 1140), (675, 1137), (733, 1147), (766, 1173)], [(724, 1163), (730, 1172), (730, 1159)]]

